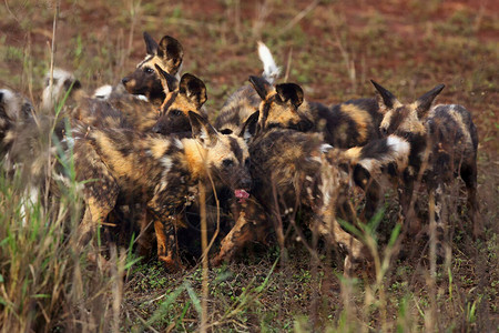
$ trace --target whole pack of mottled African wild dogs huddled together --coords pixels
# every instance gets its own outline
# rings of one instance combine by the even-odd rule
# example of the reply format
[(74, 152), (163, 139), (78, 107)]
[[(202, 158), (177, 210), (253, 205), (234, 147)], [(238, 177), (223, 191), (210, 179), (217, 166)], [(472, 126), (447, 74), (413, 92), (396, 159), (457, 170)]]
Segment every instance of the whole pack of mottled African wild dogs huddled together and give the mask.
[[(448, 242), (445, 198), (456, 175), (466, 184), (473, 235), (482, 233), (477, 130), (464, 107), (434, 105), (444, 84), (403, 103), (371, 81), (373, 98), (324, 105), (306, 100), (298, 84), (277, 83), (279, 69), (258, 43), (263, 74), (251, 75), (216, 112), (203, 107), (204, 82), (180, 74), (181, 43), (169, 36), (157, 43), (145, 32), (144, 40), (146, 57), (136, 69), (94, 94), (59, 69), (45, 78), (37, 109), (0, 90), (2, 167), (22, 174), (27, 204), (57, 201), (74, 162), (85, 204), (74, 249), (102, 224), (132, 223), (139, 253), (156, 248), (157, 259), (177, 270), (177, 233), (198, 220), (203, 194), (206, 206), (215, 206), (207, 219), (226, 226), (212, 264), (233, 260), (251, 242), (265, 243), (268, 233), (284, 251), (289, 225), (308, 246), (299, 224), (339, 250), (348, 272), (369, 253), (338, 221), (361, 228), (358, 221), (375, 215), (386, 190), (378, 176), (397, 184), (400, 216), (413, 233), (429, 229), (414, 209), (416, 188), (426, 186), (439, 259)], [(359, 192), (361, 212), (352, 204)]]

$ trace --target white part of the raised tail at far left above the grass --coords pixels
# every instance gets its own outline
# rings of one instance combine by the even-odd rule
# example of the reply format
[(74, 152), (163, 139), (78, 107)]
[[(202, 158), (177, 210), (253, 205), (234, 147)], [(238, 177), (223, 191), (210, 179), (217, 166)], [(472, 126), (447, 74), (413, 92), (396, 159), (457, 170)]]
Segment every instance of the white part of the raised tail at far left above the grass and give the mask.
[(43, 83), (43, 94), (41, 108), (44, 111), (53, 112), (55, 105), (58, 105), (64, 98), (68, 89), (77, 82), (77, 78), (62, 69), (53, 69), (52, 85), (50, 85), (50, 72), (45, 74)]

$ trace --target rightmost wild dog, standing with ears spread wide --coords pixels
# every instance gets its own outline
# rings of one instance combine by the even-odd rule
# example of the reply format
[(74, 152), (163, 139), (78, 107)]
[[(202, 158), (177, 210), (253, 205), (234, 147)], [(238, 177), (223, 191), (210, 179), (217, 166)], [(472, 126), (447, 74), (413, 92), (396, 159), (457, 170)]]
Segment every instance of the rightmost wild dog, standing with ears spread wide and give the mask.
[(400, 103), (397, 98), (371, 81), (379, 93), (379, 108), (384, 113), (380, 131), (384, 135), (399, 135), (410, 142), (409, 164), (399, 176), (399, 203), (406, 223), (416, 231), (419, 223), (415, 216), (413, 195), (415, 183), (422, 172), (430, 198), (435, 198), (435, 221), (437, 226), (437, 255), (441, 260), (447, 220), (444, 204), (447, 186), (459, 174), (468, 191), (473, 235), (482, 233), (477, 200), (477, 129), (471, 114), (461, 105), (432, 107), (436, 97), (444, 89), (438, 84), (410, 104)]

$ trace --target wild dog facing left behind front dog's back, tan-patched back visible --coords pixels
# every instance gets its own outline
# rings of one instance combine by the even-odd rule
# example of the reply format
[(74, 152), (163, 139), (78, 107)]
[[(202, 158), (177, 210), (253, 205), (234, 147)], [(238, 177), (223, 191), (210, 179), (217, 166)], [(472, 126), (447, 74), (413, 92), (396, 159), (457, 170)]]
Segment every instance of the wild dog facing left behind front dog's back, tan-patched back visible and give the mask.
[[(329, 109), (320, 103), (304, 101), (302, 88), (294, 83), (274, 88), (258, 77), (249, 77), (249, 82), (263, 101), (259, 127), (265, 123), (266, 128), (318, 132), (326, 143), (340, 149), (365, 145), (379, 138), (377, 127), (380, 120), (374, 99), (352, 100)], [(361, 218), (368, 220), (380, 200), (379, 184), (361, 165), (355, 167), (354, 181), (366, 193)]]

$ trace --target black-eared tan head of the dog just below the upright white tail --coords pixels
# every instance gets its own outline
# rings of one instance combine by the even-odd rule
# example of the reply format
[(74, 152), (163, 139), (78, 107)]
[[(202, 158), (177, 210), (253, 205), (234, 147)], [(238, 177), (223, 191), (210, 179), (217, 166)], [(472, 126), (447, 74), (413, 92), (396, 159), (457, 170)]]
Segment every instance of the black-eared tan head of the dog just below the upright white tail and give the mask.
[(257, 131), (282, 128), (307, 131), (312, 121), (298, 108), (303, 103), (303, 90), (295, 83), (281, 83), (275, 88), (265, 79), (249, 77), (249, 82), (262, 99)]

